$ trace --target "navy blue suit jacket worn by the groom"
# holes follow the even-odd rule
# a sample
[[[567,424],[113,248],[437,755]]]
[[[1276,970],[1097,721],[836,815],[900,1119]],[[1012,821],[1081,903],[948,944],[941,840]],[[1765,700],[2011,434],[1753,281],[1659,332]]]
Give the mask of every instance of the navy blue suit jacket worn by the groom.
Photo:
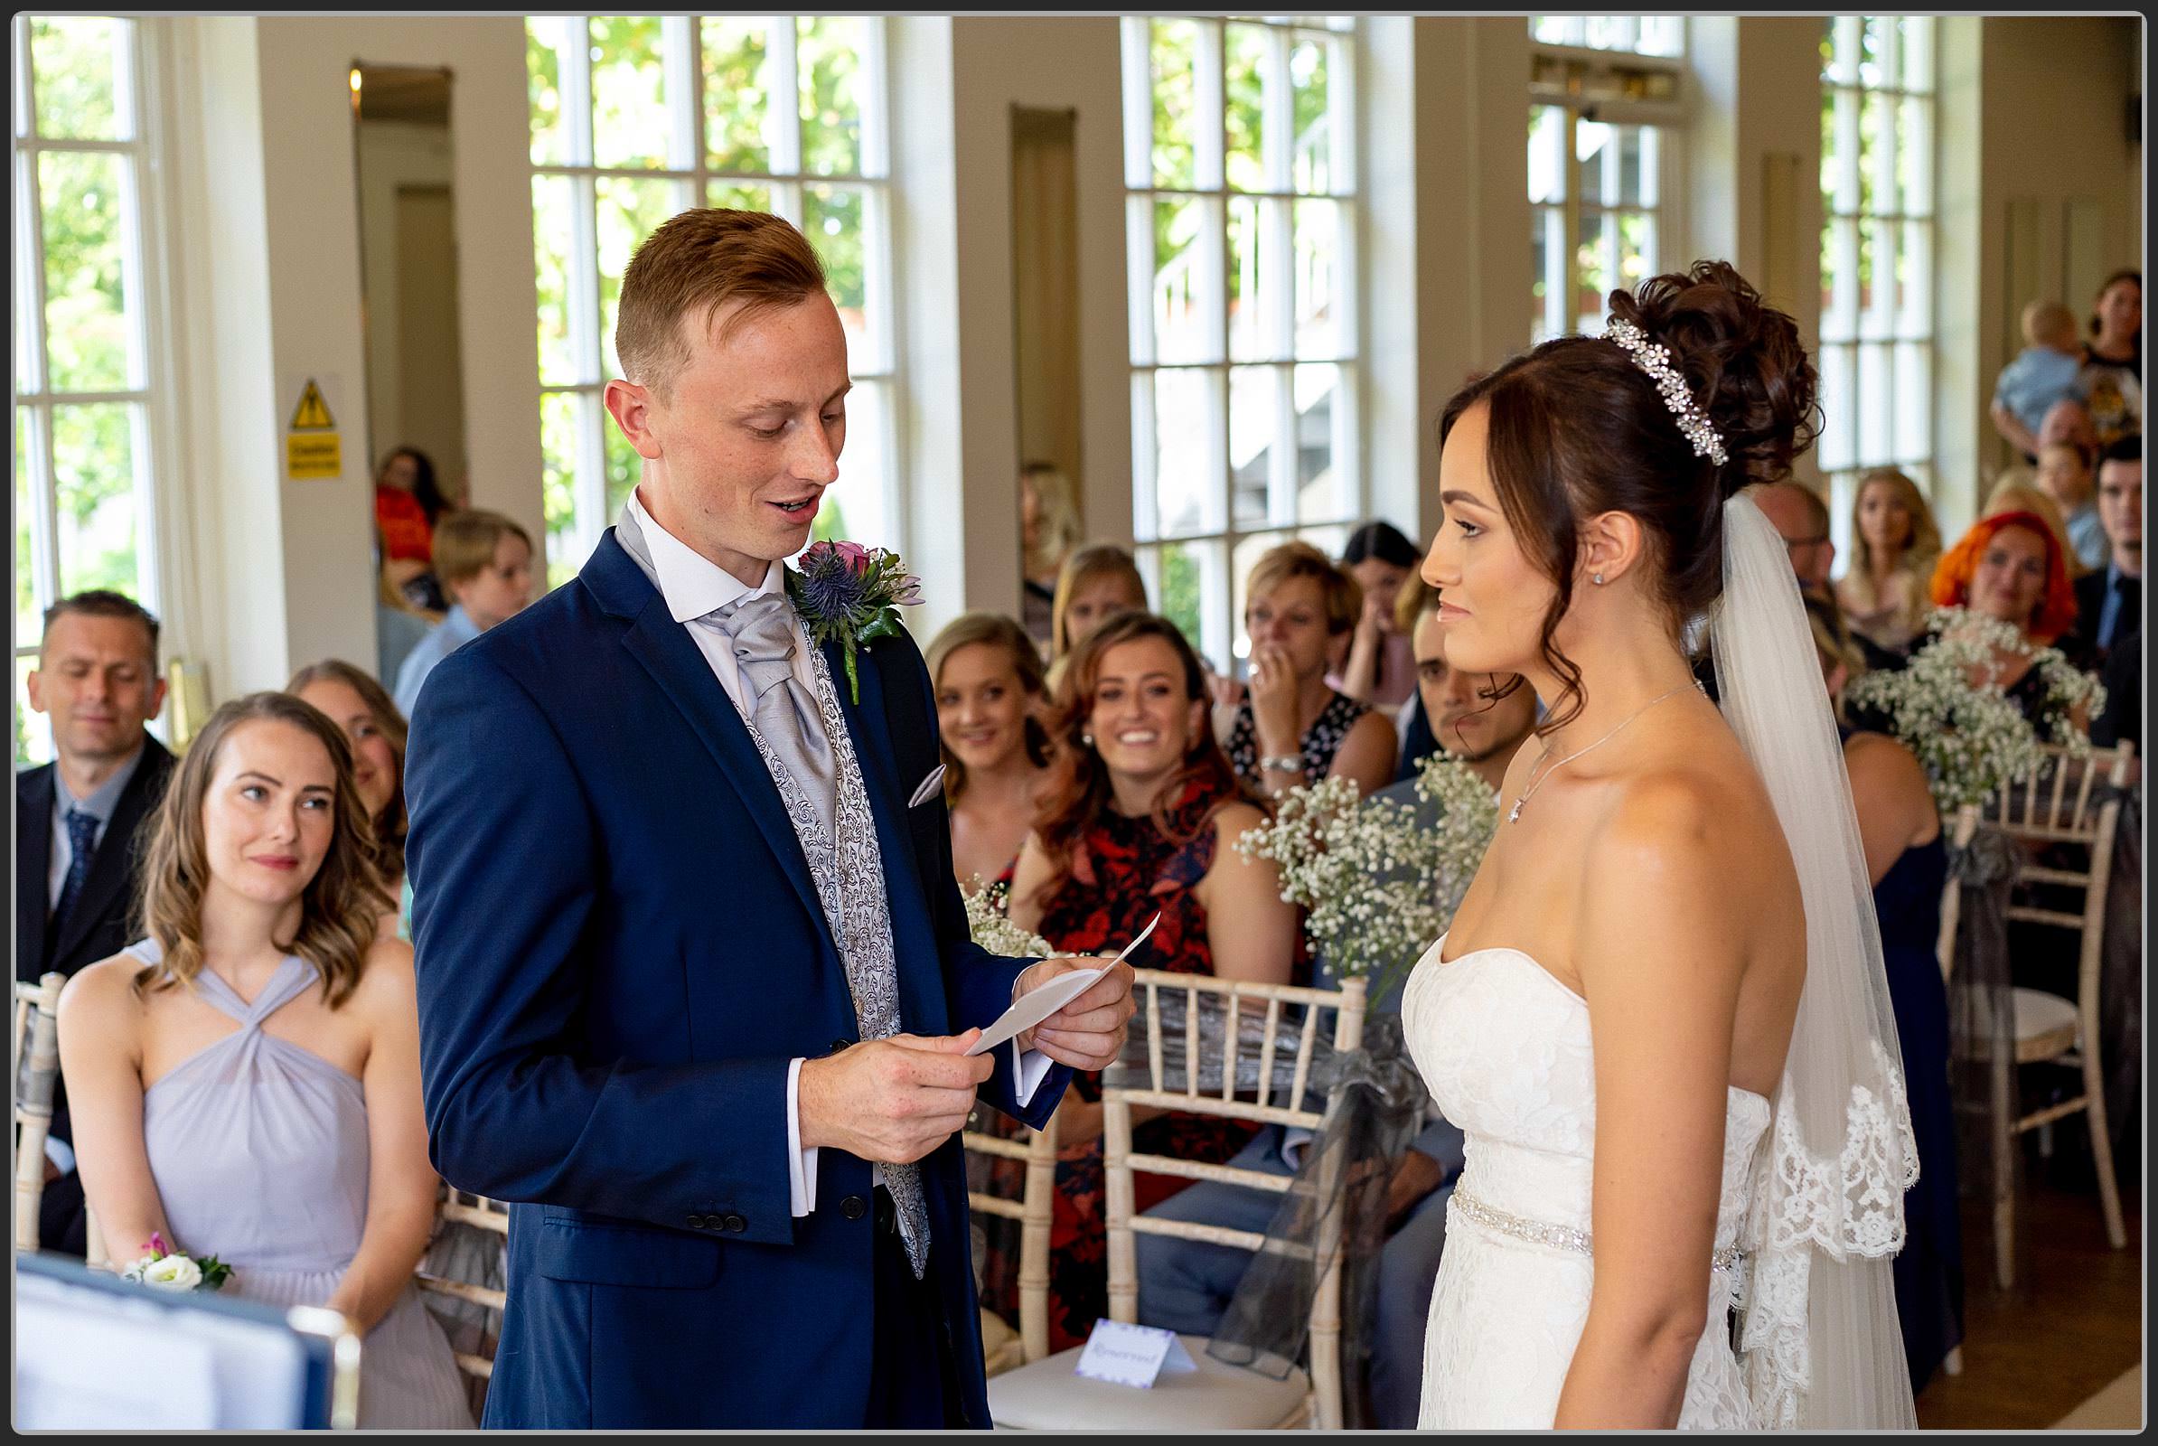
[[[913,1034],[988,1025],[1025,960],[967,935],[913,639],[827,652],[876,814]],[[445,658],[406,760],[427,1140],[509,1206],[488,1427],[861,1427],[870,1165],[788,1196],[788,1060],[852,1040],[846,971],[749,729],[609,531],[583,574]],[[986,1105],[1040,1127],[1010,1047]],[[930,1155],[945,1349],[988,1424],[967,1185]]]

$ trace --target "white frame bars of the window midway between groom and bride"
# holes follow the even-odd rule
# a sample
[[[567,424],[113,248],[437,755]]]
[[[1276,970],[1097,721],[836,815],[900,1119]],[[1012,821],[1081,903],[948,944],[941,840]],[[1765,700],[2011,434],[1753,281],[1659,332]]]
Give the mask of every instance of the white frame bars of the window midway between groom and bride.
[[[1174,19],[1198,26],[1198,50],[1193,56],[1193,186],[1189,190],[1167,190],[1155,186],[1152,142],[1155,142],[1155,91],[1152,91],[1152,22]],[[1226,173],[1228,134],[1226,121],[1204,123],[1204,117],[1224,117],[1226,104],[1226,47],[1228,24],[1224,15],[1124,15],[1124,220],[1126,220],[1126,265],[1129,265],[1129,317],[1131,317],[1131,509],[1133,537],[1137,542],[1137,563],[1146,578],[1148,596],[1157,609],[1163,606],[1163,555],[1170,548],[1187,548],[1187,557],[1198,565],[1200,581],[1200,637],[1191,643],[1213,667],[1234,671],[1234,660],[1249,654],[1249,637],[1243,628],[1243,572],[1239,568],[1239,544],[1254,540],[1301,537],[1323,546],[1329,555],[1340,550],[1347,535],[1357,527],[1370,507],[1370,483],[1364,475],[1364,423],[1362,423],[1362,326],[1360,291],[1362,276],[1357,233],[1362,224],[1362,166],[1355,147],[1355,114],[1362,104],[1357,84],[1360,22],[1347,15],[1329,17],[1286,17],[1286,15],[1239,15],[1239,26],[1267,35],[1267,88],[1262,166],[1267,186],[1262,190],[1230,188]],[[1303,24],[1299,24],[1303,22]],[[1299,41],[1327,43],[1327,97],[1329,127],[1325,134],[1329,188],[1295,188],[1295,142],[1293,95],[1288,88],[1288,58]],[[1336,99],[1338,97],[1338,99]],[[1347,119],[1334,125],[1334,119]],[[1278,140],[1286,138],[1286,140]],[[1159,360],[1155,347],[1157,276],[1155,276],[1155,205],[1157,201],[1191,201],[1202,209],[1200,235],[1189,248],[1191,289],[1198,300],[1204,326],[1213,332],[1200,358]],[[1293,248],[1293,207],[1297,201],[1334,203],[1340,227],[1336,231],[1338,253],[1334,257],[1334,313],[1338,345],[1327,356],[1299,356],[1295,347],[1295,298],[1297,298],[1297,253]],[[1230,337],[1228,315],[1228,229],[1230,205],[1254,203],[1265,233],[1265,257],[1278,257],[1286,274],[1278,274],[1265,291],[1273,306],[1260,317],[1273,343],[1265,358],[1237,358]],[[1256,278],[1256,270],[1254,270]],[[1249,296],[1249,291],[1247,291]],[[1297,406],[1295,373],[1301,365],[1336,367],[1338,386],[1329,410],[1331,466],[1338,473],[1340,511],[1323,518],[1299,518],[1297,499]],[[1275,378],[1278,419],[1267,440],[1267,516],[1258,522],[1237,520],[1234,460],[1230,455],[1230,412],[1234,406],[1230,378],[1234,373],[1271,371]],[[1155,386],[1161,373],[1196,373],[1206,382],[1208,412],[1198,419],[1208,429],[1206,455],[1213,460],[1213,490],[1202,499],[1198,527],[1163,529],[1157,492],[1157,410]],[[1249,563],[1249,559],[1243,559]]]

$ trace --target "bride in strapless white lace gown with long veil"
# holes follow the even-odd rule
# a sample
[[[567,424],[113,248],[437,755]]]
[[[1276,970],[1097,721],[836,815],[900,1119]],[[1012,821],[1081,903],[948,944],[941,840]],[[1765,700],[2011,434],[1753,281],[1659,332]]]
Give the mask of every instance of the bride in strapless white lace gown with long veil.
[[[1403,1001],[1467,1131],[1420,1424],[1912,1427],[1880,935],[1798,583],[1742,496],[1813,442],[1813,365],[1720,261],[1610,306],[1442,421],[1448,660],[1547,714]]]

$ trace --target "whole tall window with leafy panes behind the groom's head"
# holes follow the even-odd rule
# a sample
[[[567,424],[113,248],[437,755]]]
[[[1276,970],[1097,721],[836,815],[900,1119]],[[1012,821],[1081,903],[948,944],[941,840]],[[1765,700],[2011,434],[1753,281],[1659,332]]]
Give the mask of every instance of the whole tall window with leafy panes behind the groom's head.
[[[775,212],[824,261],[855,391],[818,535],[900,546],[885,22],[876,15],[527,19],[548,583],[591,555],[639,458],[600,395],[622,376],[622,270],[695,205]]]

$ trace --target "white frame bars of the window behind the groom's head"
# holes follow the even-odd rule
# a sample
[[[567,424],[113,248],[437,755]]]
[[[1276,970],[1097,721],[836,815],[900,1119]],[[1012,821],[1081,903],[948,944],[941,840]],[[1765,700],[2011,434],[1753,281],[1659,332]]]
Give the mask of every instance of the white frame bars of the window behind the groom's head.
[[[529,26],[559,24],[583,37],[583,43],[557,43],[555,54],[561,65],[561,125],[568,158],[561,164],[533,164],[533,177],[568,177],[572,192],[572,227],[568,242],[568,306],[570,306],[570,352],[576,367],[574,382],[550,382],[540,378],[540,406],[555,395],[576,397],[576,492],[574,520],[561,533],[563,555],[552,555],[555,533],[546,537],[550,555],[548,572],[574,576],[576,570],[600,546],[600,535],[613,524],[606,514],[606,427],[613,425],[602,395],[613,378],[609,367],[609,339],[602,335],[600,306],[600,244],[598,244],[598,183],[602,177],[624,177],[634,181],[671,181],[675,212],[710,205],[712,186],[762,186],[770,192],[773,212],[801,227],[805,186],[846,186],[868,192],[861,222],[868,335],[874,350],[848,345],[848,376],[857,384],[872,384],[883,395],[883,406],[874,412],[874,436],[865,436],[870,421],[848,412],[848,451],[857,458],[865,442],[883,460],[874,479],[878,509],[885,518],[883,537],[861,537],[868,544],[906,548],[906,507],[900,483],[900,339],[898,306],[893,304],[893,194],[891,194],[891,117],[887,108],[889,63],[887,63],[887,19],[883,15],[835,13],[842,19],[859,19],[863,26],[863,52],[859,69],[861,101],[861,170],[852,175],[822,175],[801,168],[801,104],[770,104],[770,97],[798,97],[801,78],[796,71],[796,19],[798,15],[768,17],[764,95],[766,142],[770,149],[770,170],[714,170],[708,164],[704,114],[704,15],[663,15],[663,65],[667,67],[665,93],[669,112],[667,166],[598,166],[591,149],[591,15],[527,15]],[[781,82],[783,78],[783,82]],[[537,257],[535,257],[537,261]],[[535,363],[537,365],[537,363]],[[842,488],[831,496],[846,503],[859,496],[870,479],[850,477],[842,455]],[[857,533],[859,535],[859,533]]]

